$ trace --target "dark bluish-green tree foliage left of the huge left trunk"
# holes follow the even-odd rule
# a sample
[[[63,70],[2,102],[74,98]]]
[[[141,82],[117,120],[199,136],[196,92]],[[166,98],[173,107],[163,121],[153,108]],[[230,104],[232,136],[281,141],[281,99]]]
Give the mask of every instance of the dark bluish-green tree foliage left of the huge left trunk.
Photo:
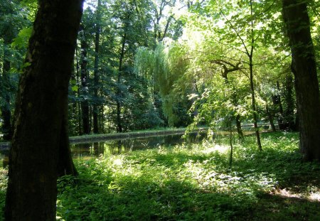
[[[18,31],[26,26],[26,16],[24,11],[21,10],[21,5],[18,1],[1,1],[0,2],[0,41],[3,41],[1,45],[0,60],[2,68],[0,72],[0,110],[3,123],[1,125],[1,132],[4,134],[4,140],[10,140],[12,136],[11,130],[11,104],[14,100],[16,92],[17,78],[11,68],[17,68],[19,63],[20,52],[19,50],[11,47],[11,43],[14,42],[14,38],[17,37]],[[3,49],[2,49],[3,48]],[[16,65],[15,65],[16,63]]]

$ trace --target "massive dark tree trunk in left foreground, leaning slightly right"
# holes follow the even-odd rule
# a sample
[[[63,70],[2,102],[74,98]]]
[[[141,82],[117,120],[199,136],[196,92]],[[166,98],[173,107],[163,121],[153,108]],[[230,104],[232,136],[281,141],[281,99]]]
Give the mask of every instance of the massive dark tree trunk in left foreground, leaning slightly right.
[[[68,170],[62,154],[82,1],[38,5],[16,99],[6,220],[55,220],[58,168]]]

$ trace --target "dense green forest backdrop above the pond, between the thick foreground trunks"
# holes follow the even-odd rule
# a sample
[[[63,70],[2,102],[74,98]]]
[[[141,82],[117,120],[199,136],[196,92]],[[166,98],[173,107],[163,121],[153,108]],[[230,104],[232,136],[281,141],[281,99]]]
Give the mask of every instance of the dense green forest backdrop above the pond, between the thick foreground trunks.
[[[0,4],[0,124],[8,140],[37,4]],[[70,135],[203,125],[238,129],[241,137],[244,122],[297,130],[281,7],[279,1],[86,1],[69,88]],[[318,11],[312,1],[317,61]]]

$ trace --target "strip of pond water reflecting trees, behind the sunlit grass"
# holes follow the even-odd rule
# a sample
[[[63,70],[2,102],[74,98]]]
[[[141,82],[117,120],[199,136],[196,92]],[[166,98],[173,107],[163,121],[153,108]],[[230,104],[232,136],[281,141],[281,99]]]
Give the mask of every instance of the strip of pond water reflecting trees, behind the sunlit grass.
[[[128,151],[136,151],[142,149],[152,149],[159,146],[174,146],[182,143],[198,143],[204,138],[203,135],[191,134],[186,139],[181,137],[181,134],[166,135],[166,136],[151,136],[139,139],[118,139],[100,141],[91,144],[73,144],[71,152],[73,158],[87,158],[107,156],[112,154],[125,153]]]

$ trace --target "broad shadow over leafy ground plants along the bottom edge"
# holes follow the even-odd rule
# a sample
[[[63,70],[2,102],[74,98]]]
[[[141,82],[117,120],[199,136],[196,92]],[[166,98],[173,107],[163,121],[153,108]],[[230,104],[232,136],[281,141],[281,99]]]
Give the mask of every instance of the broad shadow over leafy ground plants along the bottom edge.
[[[60,195],[64,220],[319,220],[320,203],[258,193],[234,198],[206,192],[191,183],[154,183],[123,177],[107,186],[77,185]],[[94,181],[92,181],[94,183]]]

